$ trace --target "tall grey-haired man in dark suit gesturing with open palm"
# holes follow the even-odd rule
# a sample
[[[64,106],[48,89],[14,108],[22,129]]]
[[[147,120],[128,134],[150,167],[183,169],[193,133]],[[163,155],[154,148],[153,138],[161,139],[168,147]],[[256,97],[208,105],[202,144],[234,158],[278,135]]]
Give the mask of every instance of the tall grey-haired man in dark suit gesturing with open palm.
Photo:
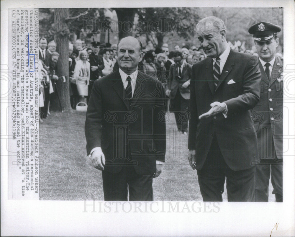
[[[254,201],[256,131],[251,111],[259,101],[258,58],[230,49],[217,17],[197,24],[208,58],[192,67],[189,164],[197,170],[204,201]]]

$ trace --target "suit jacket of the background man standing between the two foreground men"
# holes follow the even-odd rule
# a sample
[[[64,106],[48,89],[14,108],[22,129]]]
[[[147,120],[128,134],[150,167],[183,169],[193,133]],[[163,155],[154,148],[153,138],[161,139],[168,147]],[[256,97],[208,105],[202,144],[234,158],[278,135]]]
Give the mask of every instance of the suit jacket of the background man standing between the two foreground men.
[[[167,83],[166,89],[170,89],[170,95],[171,99],[174,99],[176,96],[177,89],[179,88],[179,92],[181,96],[184,99],[190,98],[190,86],[183,88],[181,85],[191,79],[191,67],[187,63],[183,66],[182,72],[181,72],[181,79],[178,79],[179,73],[178,73],[178,66],[176,64],[173,64],[170,66],[169,71],[169,83]]]

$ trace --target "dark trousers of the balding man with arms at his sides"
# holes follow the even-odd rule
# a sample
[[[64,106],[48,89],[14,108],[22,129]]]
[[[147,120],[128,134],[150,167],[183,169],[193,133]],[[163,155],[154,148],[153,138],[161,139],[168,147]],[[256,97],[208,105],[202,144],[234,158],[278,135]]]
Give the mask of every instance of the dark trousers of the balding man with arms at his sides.
[[[119,173],[102,171],[105,201],[153,201],[153,174],[137,174],[125,161]]]

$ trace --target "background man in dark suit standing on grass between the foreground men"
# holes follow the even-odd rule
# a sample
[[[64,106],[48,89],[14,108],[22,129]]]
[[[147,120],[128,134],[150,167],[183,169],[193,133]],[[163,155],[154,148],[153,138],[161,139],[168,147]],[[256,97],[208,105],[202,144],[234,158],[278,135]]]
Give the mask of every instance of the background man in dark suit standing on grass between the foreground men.
[[[171,108],[179,130],[185,135],[188,132],[189,120],[189,85],[191,67],[183,59],[181,52],[174,54],[175,64],[170,66],[169,81],[166,84],[166,95],[171,98]]]

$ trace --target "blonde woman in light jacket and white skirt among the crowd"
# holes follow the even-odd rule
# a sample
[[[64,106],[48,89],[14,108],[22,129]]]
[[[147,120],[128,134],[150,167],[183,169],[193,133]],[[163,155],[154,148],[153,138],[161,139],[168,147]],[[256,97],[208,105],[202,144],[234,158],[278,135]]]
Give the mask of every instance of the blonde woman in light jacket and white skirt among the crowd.
[[[86,96],[88,96],[88,85],[90,79],[90,63],[87,61],[87,51],[80,53],[80,59],[76,62],[75,72],[73,78],[76,81],[79,102],[83,101],[86,103]]]

